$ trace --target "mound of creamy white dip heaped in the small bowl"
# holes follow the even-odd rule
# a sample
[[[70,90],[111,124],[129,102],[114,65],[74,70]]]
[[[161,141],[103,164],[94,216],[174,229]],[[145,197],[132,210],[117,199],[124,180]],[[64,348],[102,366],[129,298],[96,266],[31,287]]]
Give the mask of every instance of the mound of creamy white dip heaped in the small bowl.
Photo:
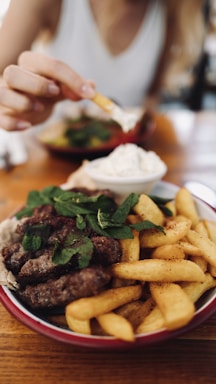
[[[164,170],[165,164],[153,151],[136,144],[122,144],[99,162],[97,171],[116,177],[139,177]]]

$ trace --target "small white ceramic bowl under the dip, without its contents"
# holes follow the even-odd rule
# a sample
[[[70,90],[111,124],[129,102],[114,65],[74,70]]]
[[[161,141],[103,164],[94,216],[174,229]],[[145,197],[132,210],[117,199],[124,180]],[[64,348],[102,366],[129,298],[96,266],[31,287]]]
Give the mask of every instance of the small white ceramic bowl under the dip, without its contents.
[[[160,167],[151,173],[143,172],[143,175],[139,176],[133,174],[121,177],[111,176],[102,172],[103,160],[104,158],[99,158],[90,161],[85,167],[85,172],[97,188],[109,189],[119,199],[124,199],[131,192],[150,193],[167,172],[166,164],[161,162]]]

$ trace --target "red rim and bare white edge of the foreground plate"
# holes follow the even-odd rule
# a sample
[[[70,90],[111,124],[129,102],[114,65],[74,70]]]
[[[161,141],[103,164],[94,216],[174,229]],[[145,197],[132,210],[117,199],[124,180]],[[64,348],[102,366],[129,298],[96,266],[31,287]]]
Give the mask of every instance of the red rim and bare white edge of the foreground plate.
[[[161,197],[173,197],[177,190],[178,187],[173,184],[160,182],[155,187],[153,193]],[[211,207],[199,199],[196,199],[196,204],[201,217],[216,221],[216,213]],[[0,287],[0,301],[21,323],[51,339],[80,347],[124,350],[175,338],[204,322],[216,311],[216,288],[211,289],[199,300],[195,316],[187,326],[176,331],[161,329],[159,331],[141,334],[136,337],[134,343],[127,343],[109,336],[81,335],[52,324],[45,316],[42,317],[30,312],[17,300],[15,294],[6,287]]]

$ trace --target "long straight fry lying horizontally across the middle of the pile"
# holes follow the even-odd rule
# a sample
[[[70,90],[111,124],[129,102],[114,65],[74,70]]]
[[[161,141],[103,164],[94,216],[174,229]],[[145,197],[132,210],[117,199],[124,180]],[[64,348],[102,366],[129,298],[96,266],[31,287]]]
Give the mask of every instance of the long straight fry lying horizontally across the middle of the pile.
[[[204,281],[201,268],[190,260],[145,259],[111,266],[111,274],[140,281]]]

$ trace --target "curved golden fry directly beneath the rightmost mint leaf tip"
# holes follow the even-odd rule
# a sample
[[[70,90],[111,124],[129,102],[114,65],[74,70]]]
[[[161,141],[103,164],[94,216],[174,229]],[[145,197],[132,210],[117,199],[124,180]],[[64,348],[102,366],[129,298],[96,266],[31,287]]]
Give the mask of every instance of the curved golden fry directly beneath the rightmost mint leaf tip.
[[[183,239],[190,229],[190,221],[172,221],[165,228],[165,234],[155,229],[142,231],[140,234],[141,248],[156,248],[161,245],[175,244]]]

